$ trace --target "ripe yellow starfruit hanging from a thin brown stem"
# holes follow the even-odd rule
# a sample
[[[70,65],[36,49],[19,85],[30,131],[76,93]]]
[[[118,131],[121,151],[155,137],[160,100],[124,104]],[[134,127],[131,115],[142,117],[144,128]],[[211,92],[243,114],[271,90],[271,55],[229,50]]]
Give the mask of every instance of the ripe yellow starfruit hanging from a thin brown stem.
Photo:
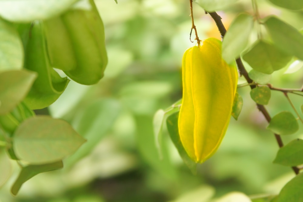
[[[206,39],[185,51],[178,129],[185,151],[197,163],[211,157],[225,135],[237,80],[236,67],[222,59],[218,39]]]

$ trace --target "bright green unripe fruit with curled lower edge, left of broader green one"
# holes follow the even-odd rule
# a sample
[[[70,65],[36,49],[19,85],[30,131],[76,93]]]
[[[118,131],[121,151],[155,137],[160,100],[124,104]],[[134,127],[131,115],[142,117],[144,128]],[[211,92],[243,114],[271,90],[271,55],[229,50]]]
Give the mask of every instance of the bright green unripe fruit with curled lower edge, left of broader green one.
[[[23,32],[21,31],[21,34],[31,36],[27,42],[24,41],[24,67],[37,72],[38,77],[24,102],[31,109],[42,109],[58,99],[68,85],[69,79],[62,78],[49,64],[42,22],[34,21],[28,26],[31,26],[31,29],[25,27]]]

